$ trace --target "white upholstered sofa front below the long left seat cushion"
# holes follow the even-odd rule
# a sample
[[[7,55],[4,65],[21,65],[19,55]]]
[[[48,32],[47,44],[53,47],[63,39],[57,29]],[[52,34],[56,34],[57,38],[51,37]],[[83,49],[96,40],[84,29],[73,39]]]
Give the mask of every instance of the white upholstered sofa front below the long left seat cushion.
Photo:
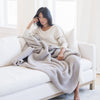
[[[0,100],[47,100],[43,98],[59,92],[60,91],[51,82],[48,82],[36,87],[25,89],[24,91],[0,97]]]

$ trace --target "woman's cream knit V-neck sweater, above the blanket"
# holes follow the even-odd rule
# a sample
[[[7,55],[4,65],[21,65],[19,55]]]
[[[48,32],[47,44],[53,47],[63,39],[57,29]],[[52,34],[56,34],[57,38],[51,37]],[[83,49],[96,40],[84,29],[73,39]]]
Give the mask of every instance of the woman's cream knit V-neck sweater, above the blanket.
[[[24,35],[34,35],[38,34],[41,39],[43,39],[48,45],[54,45],[59,47],[67,48],[67,41],[64,37],[64,34],[61,28],[57,25],[51,26],[47,31],[43,31],[41,27],[37,27],[32,32],[29,29],[26,29]]]

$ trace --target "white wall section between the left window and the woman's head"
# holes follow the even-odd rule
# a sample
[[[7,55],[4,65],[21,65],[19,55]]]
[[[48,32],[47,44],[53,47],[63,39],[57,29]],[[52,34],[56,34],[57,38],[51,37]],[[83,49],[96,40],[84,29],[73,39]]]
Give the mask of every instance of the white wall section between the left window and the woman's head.
[[[18,2],[18,33],[25,31],[35,14],[35,0],[17,0]]]

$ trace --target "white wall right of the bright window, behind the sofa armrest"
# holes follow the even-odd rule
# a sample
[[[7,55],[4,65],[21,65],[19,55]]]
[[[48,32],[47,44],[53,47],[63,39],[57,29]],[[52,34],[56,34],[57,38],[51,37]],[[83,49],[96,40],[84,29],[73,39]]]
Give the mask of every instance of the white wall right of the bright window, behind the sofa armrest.
[[[77,38],[96,45],[97,71],[100,72],[100,0],[77,2]]]

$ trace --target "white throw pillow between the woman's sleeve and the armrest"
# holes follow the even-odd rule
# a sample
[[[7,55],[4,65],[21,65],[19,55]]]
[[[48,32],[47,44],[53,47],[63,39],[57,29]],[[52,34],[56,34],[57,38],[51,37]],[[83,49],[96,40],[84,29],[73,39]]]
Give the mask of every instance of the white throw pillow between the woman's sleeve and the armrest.
[[[66,40],[68,42],[68,48],[78,52],[79,51],[78,50],[78,42],[76,39],[76,33],[75,33],[74,29],[70,30],[69,32],[64,32],[64,33],[65,33]]]

